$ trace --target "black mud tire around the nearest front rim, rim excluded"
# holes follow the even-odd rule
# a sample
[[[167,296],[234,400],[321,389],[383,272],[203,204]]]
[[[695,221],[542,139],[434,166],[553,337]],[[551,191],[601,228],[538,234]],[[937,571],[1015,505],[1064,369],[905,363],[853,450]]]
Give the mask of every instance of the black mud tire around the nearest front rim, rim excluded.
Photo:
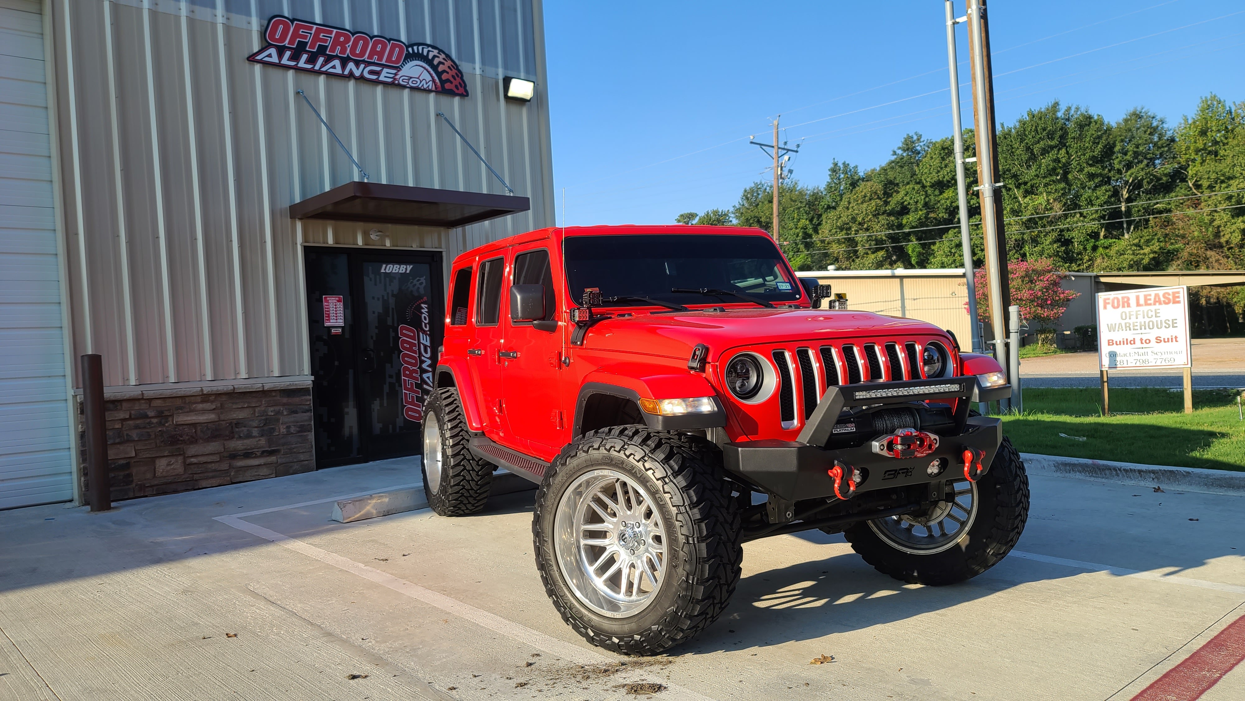
[[[726,610],[740,581],[740,510],[721,466],[702,438],[615,426],[566,446],[537,492],[532,537],[545,593],[575,633],[621,655],[656,655],[686,642]],[[554,517],[576,477],[609,467],[642,484],[667,527],[666,574],[655,601],[629,618],[585,606],[566,584],[554,550]]]

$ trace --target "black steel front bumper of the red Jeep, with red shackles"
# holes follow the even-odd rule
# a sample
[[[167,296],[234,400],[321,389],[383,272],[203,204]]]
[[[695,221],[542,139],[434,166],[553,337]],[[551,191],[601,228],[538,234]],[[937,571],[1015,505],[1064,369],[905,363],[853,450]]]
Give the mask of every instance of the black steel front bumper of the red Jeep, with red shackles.
[[[997,392],[1002,387],[994,390]],[[1007,387],[1010,392],[1010,387]],[[740,477],[759,491],[782,499],[796,502],[834,497],[834,478],[829,469],[834,461],[860,468],[864,479],[857,493],[926,484],[964,476],[964,451],[985,452],[981,467],[990,469],[995,453],[1002,443],[1002,421],[986,416],[969,416],[970,401],[985,392],[977,387],[976,377],[950,377],[945,380],[916,380],[910,382],[870,382],[848,387],[830,387],[822,397],[797,441],[740,441],[722,446],[727,472]],[[827,449],[830,432],[844,407],[899,406],[913,401],[957,398],[951,431],[935,432],[939,446],[930,454],[919,458],[891,458],[874,453],[867,441],[859,447]],[[944,469],[930,476],[928,468],[941,458]],[[974,464],[976,467],[976,464]],[[845,493],[847,486],[840,486]]]

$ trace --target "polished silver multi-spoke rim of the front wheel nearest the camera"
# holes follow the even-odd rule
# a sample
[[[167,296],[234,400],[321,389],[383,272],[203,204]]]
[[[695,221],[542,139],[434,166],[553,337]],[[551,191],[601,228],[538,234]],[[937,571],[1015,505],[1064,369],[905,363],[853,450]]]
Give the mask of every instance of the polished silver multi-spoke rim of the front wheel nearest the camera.
[[[563,492],[554,514],[558,564],[594,611],[625,618],[652,603],[666,570],[666,527],[652,497],[613,469],[593,469]]]

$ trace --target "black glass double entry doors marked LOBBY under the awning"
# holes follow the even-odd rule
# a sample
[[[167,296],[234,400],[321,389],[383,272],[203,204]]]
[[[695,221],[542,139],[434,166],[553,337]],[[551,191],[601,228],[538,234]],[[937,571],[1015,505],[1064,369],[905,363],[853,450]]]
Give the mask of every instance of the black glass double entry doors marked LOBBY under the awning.
[[[317,467],[418,454],[441,254],[309,247],[306,271]]]

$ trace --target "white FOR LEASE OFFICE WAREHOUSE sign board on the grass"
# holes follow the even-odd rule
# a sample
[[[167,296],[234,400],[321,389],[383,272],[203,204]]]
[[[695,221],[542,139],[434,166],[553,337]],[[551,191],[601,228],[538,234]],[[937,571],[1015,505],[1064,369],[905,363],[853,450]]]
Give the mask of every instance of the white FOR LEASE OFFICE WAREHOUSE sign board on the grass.
[[[1103,370],[1189,367],[1189,288],[1098,293]]]

